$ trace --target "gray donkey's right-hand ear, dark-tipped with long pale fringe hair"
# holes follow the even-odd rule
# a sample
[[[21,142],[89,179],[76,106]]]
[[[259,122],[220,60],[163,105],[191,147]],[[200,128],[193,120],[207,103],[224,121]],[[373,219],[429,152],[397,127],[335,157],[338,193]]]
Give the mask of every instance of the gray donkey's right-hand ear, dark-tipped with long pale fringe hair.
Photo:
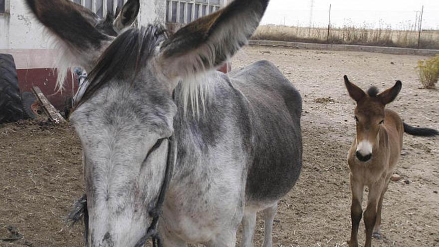
[[[247,42],[267,5],[268,0],[234,0],[181,28],[160,48],[161,69],[172,78],[220,66]]]

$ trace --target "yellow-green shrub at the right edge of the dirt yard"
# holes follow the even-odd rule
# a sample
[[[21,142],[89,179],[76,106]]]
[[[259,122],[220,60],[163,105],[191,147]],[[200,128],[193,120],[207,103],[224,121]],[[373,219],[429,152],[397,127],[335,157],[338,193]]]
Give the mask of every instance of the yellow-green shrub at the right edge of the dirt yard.
[[[416,72],[425,88],[434,88],[439,79],[439,54],[427,60],[419,60]]]

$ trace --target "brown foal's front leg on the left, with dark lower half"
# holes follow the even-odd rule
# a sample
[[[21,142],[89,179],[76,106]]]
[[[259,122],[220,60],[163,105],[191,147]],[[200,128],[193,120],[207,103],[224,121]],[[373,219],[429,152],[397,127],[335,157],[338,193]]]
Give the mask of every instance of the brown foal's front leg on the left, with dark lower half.
[[[360,226],[361,217],[363,215],[363,209],[361,208],[361,201],[363,201],[364,185],[355,181],[351,175],[351,192],[352,192],[352,204],[351,204],[351,240],[348,241],[349,247],[358,247],[358,227]]]

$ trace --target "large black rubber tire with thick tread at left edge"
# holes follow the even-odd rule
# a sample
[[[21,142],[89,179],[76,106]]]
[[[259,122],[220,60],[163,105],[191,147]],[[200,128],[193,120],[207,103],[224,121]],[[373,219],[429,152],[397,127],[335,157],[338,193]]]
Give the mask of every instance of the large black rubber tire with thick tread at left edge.
[[[17,71],[12,55],[0,54],[0,123],[23,119]]]

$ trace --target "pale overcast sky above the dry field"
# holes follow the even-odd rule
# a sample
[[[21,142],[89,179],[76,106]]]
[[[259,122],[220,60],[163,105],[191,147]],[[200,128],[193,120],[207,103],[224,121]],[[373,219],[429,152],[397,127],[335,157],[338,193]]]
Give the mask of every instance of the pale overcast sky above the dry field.
[[[311,1],[270,0],[262,24],[309,26]],[[377,28],[381,24],[410,29],[414,27],[416,11],[424,5],[423,29],[439,29],[439,0],[314,0],[313,26],[328,26],[330,4],[331,25],[335,27],[354,24]]]

